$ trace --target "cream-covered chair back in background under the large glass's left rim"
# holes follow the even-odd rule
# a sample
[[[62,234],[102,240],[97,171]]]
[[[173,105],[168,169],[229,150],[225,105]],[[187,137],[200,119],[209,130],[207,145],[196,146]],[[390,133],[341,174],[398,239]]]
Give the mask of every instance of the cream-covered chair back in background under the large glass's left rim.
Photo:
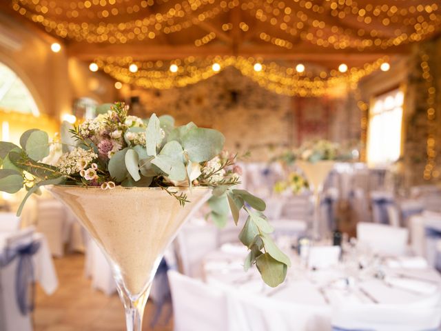
[[[55,257],[64,254],[65,208],[55,199],[41,199],[37,202],[37,231],[48,239],[50,252]]]

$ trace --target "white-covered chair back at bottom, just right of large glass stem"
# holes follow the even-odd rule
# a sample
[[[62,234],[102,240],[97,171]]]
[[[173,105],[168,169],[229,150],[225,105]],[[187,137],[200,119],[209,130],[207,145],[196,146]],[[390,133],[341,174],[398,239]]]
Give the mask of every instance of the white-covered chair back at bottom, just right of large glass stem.
[[[173,270],[167,274],[175,331],[229,331],[227,296],[223,290]]]

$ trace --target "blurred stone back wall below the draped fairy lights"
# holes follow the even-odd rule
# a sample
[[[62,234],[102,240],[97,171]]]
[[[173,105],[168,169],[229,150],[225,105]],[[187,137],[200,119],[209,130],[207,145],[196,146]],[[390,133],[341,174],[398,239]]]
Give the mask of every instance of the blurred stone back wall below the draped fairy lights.
[[[269,92],[226,68],[216,76],[185,88],[134,90],[134,111],[170,114],[178,125],[194,121],[225,134],[226,148],[252,152],[267,161],[287,147],[313,137],[346,141],[360,136],[360,117],[351,99],[291,98]]]

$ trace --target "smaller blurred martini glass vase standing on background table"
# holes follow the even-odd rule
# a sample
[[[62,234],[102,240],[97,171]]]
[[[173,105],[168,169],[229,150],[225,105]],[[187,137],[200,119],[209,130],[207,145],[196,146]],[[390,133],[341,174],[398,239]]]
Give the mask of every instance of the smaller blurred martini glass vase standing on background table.
[[[314,218],[312,223],[313,239],[320,239],[320,197],[323,192],[323,183],[329,172],[334,168],[334,161],[323,160],[317,162],[296,161],[296,165],[307,177],[309,186],[312,186],[314,197]]]

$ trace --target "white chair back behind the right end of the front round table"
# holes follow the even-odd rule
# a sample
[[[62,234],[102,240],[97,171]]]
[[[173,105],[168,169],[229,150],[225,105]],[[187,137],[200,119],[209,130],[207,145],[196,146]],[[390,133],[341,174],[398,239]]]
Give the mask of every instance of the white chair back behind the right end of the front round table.
[[[358,242],[374,253],[403,255],[407,252],[409,230],[376,223],[357,224]]]

